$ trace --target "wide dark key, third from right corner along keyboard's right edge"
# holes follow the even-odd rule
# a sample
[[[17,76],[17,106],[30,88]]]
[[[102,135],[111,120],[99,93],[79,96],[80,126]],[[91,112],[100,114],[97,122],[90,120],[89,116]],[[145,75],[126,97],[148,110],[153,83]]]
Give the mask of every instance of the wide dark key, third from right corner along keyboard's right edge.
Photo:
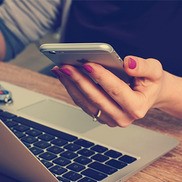
[[[104,165],[104,164],[101,164],[99,162],[93,162],[93,163],[89,164],[88,166],[95,170],[98,170],[102,173],[108,174],[108,175],[111,175],[117,171],[117,169]]]

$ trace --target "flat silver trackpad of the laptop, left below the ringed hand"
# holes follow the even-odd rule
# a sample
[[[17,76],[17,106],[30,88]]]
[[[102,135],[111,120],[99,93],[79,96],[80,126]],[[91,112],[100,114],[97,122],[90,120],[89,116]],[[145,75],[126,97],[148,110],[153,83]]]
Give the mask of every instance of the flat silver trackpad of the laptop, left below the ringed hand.
[[[38,119],[39,123],[76,133],[85,133],[99,126],[81,109],[49,99],[24,107],[19,112]]]

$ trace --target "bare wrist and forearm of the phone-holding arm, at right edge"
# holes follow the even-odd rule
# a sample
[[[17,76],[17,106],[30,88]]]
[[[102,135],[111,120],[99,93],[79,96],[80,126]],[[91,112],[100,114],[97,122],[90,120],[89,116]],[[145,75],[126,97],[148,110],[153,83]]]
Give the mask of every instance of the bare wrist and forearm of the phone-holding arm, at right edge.
[[[182,78],[164,72],[164,84],[157,108],[182,118]]]

